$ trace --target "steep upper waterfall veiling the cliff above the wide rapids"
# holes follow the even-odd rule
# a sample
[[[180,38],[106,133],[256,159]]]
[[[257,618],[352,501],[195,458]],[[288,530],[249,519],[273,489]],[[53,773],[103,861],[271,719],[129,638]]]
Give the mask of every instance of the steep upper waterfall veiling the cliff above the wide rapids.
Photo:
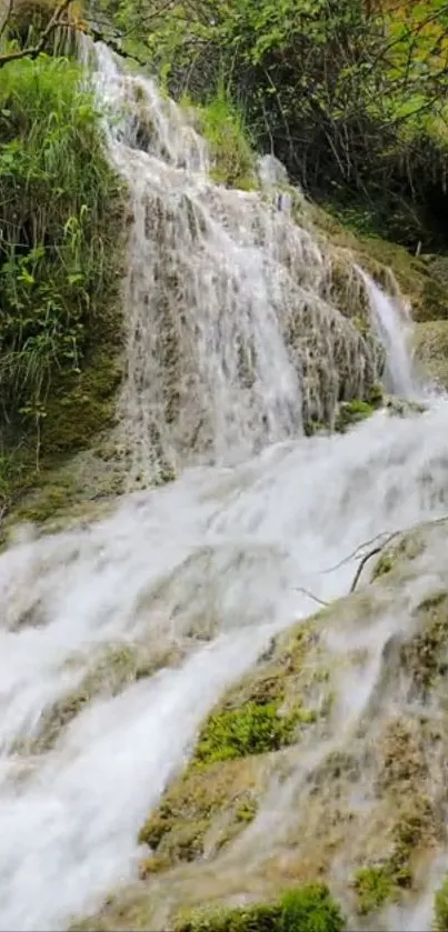
[[[331,423],[338,401],[379,381],[374,283],[366,338],[355,320],[365,273],[346,258],[352,294],[336,301],[331,255],[279,196],[276,160],[259,162],[261,191],[213,184],[191,114],[121,72],[101,44],[96,84],[131,200],[120,407],[129,488],[241,461],[310,418]]]

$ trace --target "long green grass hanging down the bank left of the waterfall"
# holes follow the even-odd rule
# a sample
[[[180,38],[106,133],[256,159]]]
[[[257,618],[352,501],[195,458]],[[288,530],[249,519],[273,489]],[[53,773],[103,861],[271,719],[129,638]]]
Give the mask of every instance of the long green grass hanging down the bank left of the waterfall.
[[[56,384],[81,377],[119,272],[121,191],[81,79],[40,56],[3,69],[0,89],[2,432],[31,423],[38,441]]]

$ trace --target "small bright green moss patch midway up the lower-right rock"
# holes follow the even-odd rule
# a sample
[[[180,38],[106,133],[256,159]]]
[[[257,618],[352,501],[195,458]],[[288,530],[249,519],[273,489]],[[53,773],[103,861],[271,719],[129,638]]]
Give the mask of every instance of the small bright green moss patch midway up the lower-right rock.
[[[198,763],[277,751],[291,743],[298,719],[307,713],[278,714],[278,704],[247,702],[241,709],[217,712],[200,732],[195,758]],[[310,713],[308,713],[310,714]]]

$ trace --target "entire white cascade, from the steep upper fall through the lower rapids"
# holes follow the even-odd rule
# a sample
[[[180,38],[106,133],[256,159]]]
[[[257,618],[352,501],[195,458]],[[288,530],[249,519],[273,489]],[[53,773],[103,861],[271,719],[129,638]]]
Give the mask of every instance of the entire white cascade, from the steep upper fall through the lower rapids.
[[[375,370],[322,297],[321,251],[287,212],[212,186],[175,104],[104,51],[99,61],[111,97],[131,106],[111,147],[133,212],[121,400],[132,480],[155,478],[160,460],[193,468],[102,523],[0,558],[4,930],[64,929],[132,878],[138,829],[226,685],[313,610],[307,591],[347,592],[354,564],[326,570],[379,532],[442,513],[448,498],[444,400],[411,420],[378,413],[347,435],[300,435],[322,372],[337,400],[337,353],[355,388]],[[135,148],[139,88],[148,151]],[[395,621],[381,624],[379,650]],[[362,637],[374,634],[360,620]],[[347,694],[347,722],[374,679],[359,703]]]

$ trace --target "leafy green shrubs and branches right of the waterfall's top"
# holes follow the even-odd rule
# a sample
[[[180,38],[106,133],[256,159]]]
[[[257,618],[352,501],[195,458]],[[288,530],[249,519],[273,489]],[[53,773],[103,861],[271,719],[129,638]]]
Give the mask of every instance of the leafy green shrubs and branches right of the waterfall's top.
[[[448,241],[446,0],[116,0],[113,20],[175,94],[223,80],[257,146],[365,231]]]

